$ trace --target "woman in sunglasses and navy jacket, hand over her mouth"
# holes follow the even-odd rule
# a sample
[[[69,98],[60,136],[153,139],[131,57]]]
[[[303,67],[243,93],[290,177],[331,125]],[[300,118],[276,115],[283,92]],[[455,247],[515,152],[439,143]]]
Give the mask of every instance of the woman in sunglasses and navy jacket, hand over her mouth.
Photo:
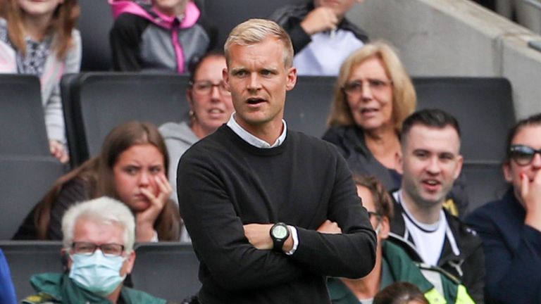
[[[507,137],[499,201],[466,222],[483,239],[489,303],[541,303],[541,114],[519,121]]]

